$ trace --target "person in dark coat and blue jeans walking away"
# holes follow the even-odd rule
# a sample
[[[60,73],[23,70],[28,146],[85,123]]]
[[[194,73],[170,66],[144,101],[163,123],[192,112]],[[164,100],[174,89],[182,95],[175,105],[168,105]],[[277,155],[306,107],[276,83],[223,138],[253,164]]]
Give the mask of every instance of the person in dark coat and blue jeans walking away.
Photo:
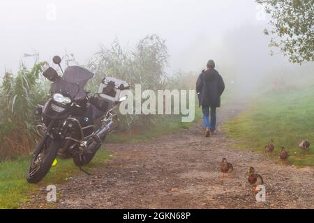
[[[207,70],[203,70],[196,82],[196,92],[200,107],[202,106],[205,137],[216,130],[216,109],[220,107],[220,96],[225,90],[225,83],[217,70],[215,62],[207,62]],[[209,118],[210,115],[210,118]]]

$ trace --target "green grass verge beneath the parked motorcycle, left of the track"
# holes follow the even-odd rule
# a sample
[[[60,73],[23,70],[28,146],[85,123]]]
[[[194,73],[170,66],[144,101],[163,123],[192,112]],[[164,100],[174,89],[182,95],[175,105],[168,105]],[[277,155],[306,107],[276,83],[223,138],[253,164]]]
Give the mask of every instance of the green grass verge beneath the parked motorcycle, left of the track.
[[[99,167],[107,162],[110,153],[98,151],[94,160],[84,169]],[[18,204],[29,199],[29,194],[38,192],[40,187],[51,184],[64,183],[68,178],[80,172],[72,160],[58,160],[58,164],[38,184],[33,185],[25,180],[25,173],[29,167],[29,157],[22,157],[13,162],[0,163],[0,209],[19,208]]]

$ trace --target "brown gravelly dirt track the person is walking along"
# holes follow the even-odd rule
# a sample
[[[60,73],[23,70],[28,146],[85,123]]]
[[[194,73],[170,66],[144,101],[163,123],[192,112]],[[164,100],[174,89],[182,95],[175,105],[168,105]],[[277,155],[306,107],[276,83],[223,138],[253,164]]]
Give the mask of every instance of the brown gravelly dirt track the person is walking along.
[[[218,125],[245,109],[238,98],[218,110]],[[56,208],[314,208],[313,169],[281,167],[268,157],[231,148],[218,133],[203,137],[202,123],[141,144],[108,144],[114,158],[94,176],[80,174],[57,185]],[[220,179],[223,157],[234,165]],[[249,167],[264,178],[267,201],[256,202],[247,182]],[[45,193],[24,203],[45,206]]]

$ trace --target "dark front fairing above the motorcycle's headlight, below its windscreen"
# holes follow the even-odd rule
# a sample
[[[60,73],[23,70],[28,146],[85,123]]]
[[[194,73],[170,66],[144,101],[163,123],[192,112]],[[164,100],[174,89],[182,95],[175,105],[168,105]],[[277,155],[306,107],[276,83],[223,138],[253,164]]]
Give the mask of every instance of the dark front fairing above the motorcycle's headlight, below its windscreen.
[[[57,79],[56,82],[51,84],[51,93],[61,93],[72,100],[80,92],[80,86],[78,84],[67,82],[63,78]]]

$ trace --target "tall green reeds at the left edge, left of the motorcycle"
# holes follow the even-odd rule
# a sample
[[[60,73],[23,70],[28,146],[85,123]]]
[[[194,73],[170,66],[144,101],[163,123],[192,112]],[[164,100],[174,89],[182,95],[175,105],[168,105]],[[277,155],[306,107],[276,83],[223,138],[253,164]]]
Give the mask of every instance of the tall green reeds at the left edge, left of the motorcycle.
[[[6,72],[0,88],[0,155],[27,154],[35,142],[33,109],[45,101],[47,85],[39,77],[43,63],[31,70],[22,64],[17,75]]]

